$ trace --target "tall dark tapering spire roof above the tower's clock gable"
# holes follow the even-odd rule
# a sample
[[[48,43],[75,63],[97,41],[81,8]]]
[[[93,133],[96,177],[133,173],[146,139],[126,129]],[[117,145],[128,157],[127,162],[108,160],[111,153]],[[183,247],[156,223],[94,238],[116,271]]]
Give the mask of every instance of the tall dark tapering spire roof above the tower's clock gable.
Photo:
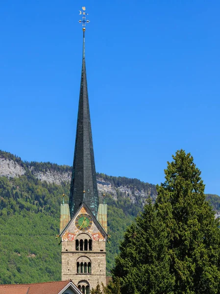
[[[99,201],[86,79],[85,27],[83,27],[82,72],[69,202],[71,218],[83,201],[97,217]]]

